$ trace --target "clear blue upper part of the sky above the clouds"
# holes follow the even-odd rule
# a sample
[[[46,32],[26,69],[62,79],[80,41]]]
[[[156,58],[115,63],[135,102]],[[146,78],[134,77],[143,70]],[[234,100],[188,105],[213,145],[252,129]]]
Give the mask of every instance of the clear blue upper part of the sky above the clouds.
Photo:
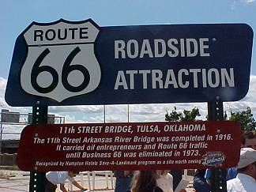
[[[15,40],[32,21],[92,18],[100,26],[247,23],[256,31],[254,0],[1,0],[0,10],[0,77],[4,78],[8,77]],[[255,54],[252,62],[254,57]],[[251,73],[256,74],[255,65],[252,65]]]

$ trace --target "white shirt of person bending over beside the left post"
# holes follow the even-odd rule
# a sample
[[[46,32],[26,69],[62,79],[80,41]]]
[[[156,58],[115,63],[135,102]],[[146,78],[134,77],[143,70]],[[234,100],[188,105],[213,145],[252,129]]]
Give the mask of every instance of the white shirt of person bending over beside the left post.
[[[69,179],[71,182],[74,180],[69,177],[68,171],[49,171],[46,174],[46,178],[54,185],[65,184],[66,179]]]

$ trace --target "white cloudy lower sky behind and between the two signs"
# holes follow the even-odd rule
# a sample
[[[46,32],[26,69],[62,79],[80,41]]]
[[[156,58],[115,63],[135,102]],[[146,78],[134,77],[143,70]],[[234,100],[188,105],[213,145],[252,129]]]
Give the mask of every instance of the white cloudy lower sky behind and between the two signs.
[[[256,118],[256,76],[250,76],[250,86],[247,96],[243,100],[236,102],[225,102],[224,111],[228,115],[230,109],[233,112],[246,110],[250,107]],[[4,94],[6,90],[6,79],[0,77],[0,108],[9,109],[9,111],[17,111],[28,114],[32,112],[32,107],[10,107],[6,104]],[[200,119],[205,119],[207,115],[206,103],[182,103],[182,104],[131,104],[129,106],[130,122],[153,122],[164,121],[166,112],[171,112],[177,107],[178,111],[191,110],[193,107],[200,109]],[[49,107],[49,113],[56,116],[64,116],[66,123],[85,123],[85,122],[104,122],[104,106],[88,105],[88,106],[66,106],[66,107]],[[106,106],[106,122],[127,122],[128,121],[127,105],[107,105]],[[19,132],[24,126],[5,126],[5,132]],[[18,135],[8,135],[9,138],[19,137]],[[3,138],[6,138],[3,137]]]

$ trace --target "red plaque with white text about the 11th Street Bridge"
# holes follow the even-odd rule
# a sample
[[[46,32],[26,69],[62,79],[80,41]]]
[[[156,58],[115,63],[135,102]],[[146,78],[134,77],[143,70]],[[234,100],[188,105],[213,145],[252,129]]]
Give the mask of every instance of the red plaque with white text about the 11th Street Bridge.
[[[235,167],[241,129],[232,121],[35,124],[21,134],[24,171]]]

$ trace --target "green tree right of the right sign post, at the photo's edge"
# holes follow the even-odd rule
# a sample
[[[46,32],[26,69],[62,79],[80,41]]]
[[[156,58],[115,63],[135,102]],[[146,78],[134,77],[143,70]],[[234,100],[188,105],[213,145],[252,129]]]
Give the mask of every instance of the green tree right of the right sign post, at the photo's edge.
[[[233,113],[232,110],[230,111],[230,118],[229,120],[239,122],[241,124],[241,128],[243,133],[247,133],[250,131],[255,131],[256,122],[254,119],[254,115],[251,112],[250,107],[247,107],[245,111],[238,111]]]

